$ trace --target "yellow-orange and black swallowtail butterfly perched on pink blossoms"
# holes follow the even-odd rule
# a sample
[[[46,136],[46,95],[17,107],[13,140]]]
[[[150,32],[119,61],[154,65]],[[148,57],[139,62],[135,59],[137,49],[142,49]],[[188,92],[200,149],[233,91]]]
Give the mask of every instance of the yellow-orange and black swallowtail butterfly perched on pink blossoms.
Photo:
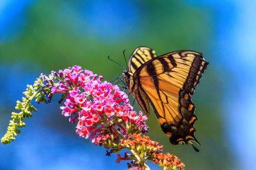
[[[157,56],[144,46],[136,48],[128,60],[123,72],[127,89],[147,116],[152,106],[173,145],[191,141],[200,145],[195,138],[197,118],[191,96],[208,64],[202,53],[180,50]]]

